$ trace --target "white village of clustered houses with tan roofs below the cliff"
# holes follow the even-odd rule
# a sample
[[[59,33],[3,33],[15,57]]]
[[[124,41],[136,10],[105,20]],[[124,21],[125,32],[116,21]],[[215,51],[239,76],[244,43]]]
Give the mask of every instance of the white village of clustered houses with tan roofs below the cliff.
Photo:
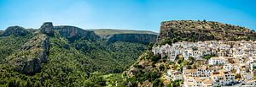
[[[165,77],[182,80],[184,87],[256,86],[256,41],[182,41],[152,52],[170,63],[183,60],[170,65]]]

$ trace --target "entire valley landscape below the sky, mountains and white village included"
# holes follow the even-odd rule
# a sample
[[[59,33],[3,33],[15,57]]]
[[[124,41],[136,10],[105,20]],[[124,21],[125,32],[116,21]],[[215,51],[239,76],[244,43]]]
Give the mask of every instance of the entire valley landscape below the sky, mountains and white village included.
[[[254,30],[205,20],[164,21],[160,34],[10,26],[0,37],[0,86],[250,85],[255,37]]]

